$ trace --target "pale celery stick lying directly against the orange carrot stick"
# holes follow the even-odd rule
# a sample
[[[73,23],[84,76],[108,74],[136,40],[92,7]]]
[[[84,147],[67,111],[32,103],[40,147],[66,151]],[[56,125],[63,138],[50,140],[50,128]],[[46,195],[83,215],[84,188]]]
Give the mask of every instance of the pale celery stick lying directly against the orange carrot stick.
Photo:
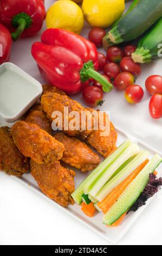
[[[113,191],[115,187],[117,187],[127,178],[127,176],[129,176],[137,167],[139,167],[142,162],[148,159],[148,156],[148,151],[141,151],[124,169],[121,170],[120,173],[114,176],[113,179],[111,179],[104,187],[102,187],[100,192],[96,195],[96,199],[101,202],[105,197],[108,196],[109,193]]]

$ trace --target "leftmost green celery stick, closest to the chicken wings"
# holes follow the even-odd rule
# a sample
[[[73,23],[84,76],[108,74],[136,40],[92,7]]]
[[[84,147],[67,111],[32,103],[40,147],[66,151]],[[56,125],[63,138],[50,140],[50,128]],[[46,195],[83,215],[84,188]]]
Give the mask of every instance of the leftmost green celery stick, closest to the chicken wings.
[[[125,141],[120,145],[118,149],[114,151],[113,154],[107,157],[105,161],[103,161],[98,167],[94,169],[92,173],[90,173],[85,180],[76,188],[76,190],[72,193],[72,197],[77,204],[81,204],[82,202],[82,194],[85,191],[85,194],[88,194],[91,186],[95,183],[95,181],[99,178],[99,176],[104,172],[104,170],[111,165],[116,158],[129,146],[131,145],[131,141]]]

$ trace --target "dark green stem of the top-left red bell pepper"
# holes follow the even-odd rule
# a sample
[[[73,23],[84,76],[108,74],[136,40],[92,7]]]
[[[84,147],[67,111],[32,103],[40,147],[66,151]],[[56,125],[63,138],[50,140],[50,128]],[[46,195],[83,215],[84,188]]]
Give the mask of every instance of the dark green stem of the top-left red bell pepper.
[[[18,38],[20,38],[24,30],[31,26],[31,23],[32,19],[28,14],[19,13],[15,15],[12,19],[12,26],[16,28],[16,31],[11,33],[12,39],[16,41]]]

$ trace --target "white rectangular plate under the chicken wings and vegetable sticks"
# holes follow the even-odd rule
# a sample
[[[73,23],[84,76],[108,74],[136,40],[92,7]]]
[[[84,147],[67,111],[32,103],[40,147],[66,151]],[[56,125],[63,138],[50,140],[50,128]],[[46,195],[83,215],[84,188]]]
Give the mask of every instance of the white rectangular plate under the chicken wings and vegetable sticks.
[[[137,143],[141,150],[148,150],[150,152],[150,158],[155,154],[159,153],[157,150],[152,149],[151,147],[148,147],[148,145],[140,142],[138,139],[132,137],[131,135],[128,135],[124,131],[120,129],[116,129],[118,131],[118,141],[117,145],[120,145],[122,142],[124,142],[126,139],[131,139],[133,142]],[[157,172],[159,175],[161,175],[161,168],[157,168]],[[83,179],[88,174],[83,174],[79,170],[76,171],[76,177],[75,177],[75,187],[77,187]],[[104,237],[107,241],[112,243],[119,242],[128,232],[128,230],[131,228],[133,223],[138,219],[139,215],[142,214],[142,212],[146,209],[147,205],[151,203],[151,200],[154,198],[150,198],[145,206],[142,206],[138,211],[129,213],[124,221],[122,221],[121,225],[117,228],[108,228],[105,225],[102,224],[102,214],[97,213],[93,218],[87,217],[80,209],[80,206],[77,204],[70,205],[67,208],[63,208],[59,204],[55,203],[53,200],[49,199],[47,196],[45,196],[40,188],[38,188],[37,183],[35,182],[34,178],[28,173],[24,174],[22,178],[16,178],[13,177],[19,182],[22,182],[25,186],[28,186],[31,190],[35,191],[36,193],[40,194],[42,198],[45,198],[55,206],[59,207],[61,210],[66,212],[67,214],[71,215],[72,217],[76,218],[80,222],[87,225],[87,227],[93,229],[96,233],[98,233],[100,236]]]

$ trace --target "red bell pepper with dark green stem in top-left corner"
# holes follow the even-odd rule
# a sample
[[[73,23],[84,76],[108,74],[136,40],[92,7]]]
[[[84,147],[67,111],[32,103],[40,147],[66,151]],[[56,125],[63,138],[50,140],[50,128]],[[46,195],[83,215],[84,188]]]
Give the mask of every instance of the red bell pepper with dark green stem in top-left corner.
[[[14,41],[39,32],[45,17],[43,0],[0,1],[0,22],[9,29]]]

